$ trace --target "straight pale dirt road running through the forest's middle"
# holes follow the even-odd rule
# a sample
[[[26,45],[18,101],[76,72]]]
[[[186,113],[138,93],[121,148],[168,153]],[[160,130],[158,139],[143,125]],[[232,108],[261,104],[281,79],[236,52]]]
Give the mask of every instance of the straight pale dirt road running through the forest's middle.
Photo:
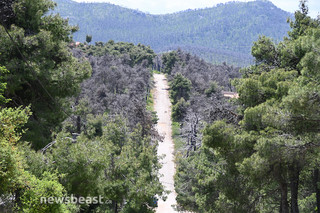
[[[157,130],[161,136],[164,136],[163,142],[159,143],[158,155],[165,155],[162,160],[162,168],[160,174],[161,183],[165,190],[170,190],[167,200],[159,200],[157,213],[176,212],[172,205],[176,205],[176,193],[174,191],[173,176],[175,173],[174,165],[174,143],[172,141],[171,133],[171,103],[169,99],[168,82],[163,74],[154,74],[155,91],[154,91],[154,110],[158,115]]]

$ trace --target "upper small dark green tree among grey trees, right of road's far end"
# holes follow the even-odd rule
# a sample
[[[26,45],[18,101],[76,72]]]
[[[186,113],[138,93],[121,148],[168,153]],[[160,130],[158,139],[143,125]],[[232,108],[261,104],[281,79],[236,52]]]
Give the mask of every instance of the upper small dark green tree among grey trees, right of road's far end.
[[[181,73],[176,74],[170,82],[170,98],[173,104],[176,104],[181,98],[188,100],[191,86],[189,79],[185,78]]]

